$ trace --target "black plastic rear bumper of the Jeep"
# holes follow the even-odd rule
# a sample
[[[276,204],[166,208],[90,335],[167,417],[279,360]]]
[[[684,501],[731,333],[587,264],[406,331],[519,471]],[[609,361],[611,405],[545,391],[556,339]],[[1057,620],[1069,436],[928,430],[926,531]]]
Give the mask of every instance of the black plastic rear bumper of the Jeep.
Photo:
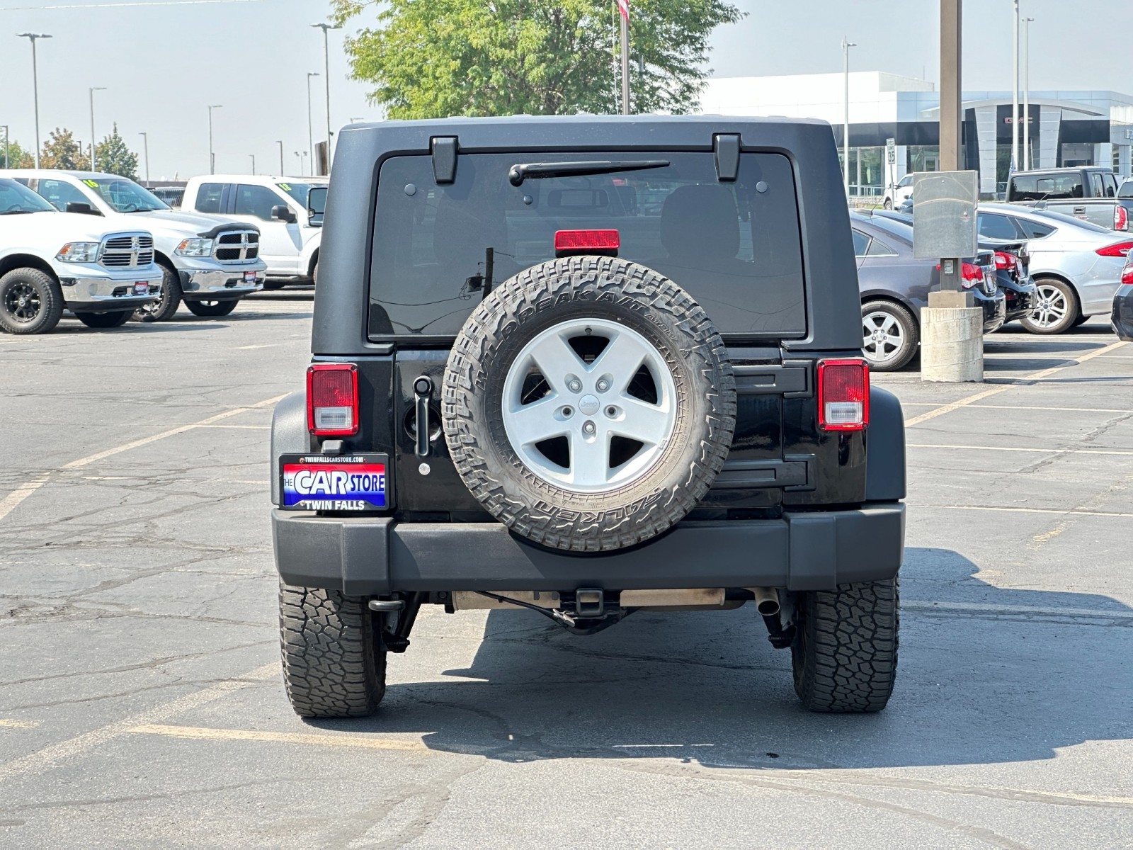
[[[684,521],[655,541],[597,555],[543,549],[496,522],[395,522],[272,511],[275,567],[290,585],[352,596],[408,590],[833,589],[892,578],[905,507]]]

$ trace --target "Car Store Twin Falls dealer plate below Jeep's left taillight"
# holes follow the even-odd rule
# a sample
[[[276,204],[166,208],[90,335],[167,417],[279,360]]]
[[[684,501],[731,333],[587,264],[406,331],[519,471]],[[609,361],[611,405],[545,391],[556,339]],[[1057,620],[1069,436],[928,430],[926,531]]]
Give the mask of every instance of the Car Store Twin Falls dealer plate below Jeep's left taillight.
[[[283,454],[281,508],[375,511],[389,508],[385,454]]]

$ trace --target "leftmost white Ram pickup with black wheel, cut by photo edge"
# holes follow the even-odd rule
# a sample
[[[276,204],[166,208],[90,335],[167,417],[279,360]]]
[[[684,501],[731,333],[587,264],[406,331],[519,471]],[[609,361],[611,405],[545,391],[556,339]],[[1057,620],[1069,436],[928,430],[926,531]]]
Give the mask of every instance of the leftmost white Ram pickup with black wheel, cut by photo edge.
[[[0,178],[0,330],[46,333],[66,307],[88,328],[119,328],[157,299],[153,237],[57,212]]]

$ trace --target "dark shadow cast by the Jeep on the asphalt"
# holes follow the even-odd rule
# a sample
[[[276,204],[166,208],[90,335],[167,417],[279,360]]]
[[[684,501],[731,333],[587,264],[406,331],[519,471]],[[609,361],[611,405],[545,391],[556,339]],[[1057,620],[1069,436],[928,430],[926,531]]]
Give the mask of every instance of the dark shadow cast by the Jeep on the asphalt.
[[[804,711],[790,654],[746,605],[639,612],[591,637],[493,611],[471,665],[443,672],[454,681],[392,685],[374,717],[315,725],[412,732],[434,750],[503,762],[778,770],[1023,762],[1133,738],[1133,609],[997,588],[977,572],[949,550],[906,550],[900,673],[879,714]]]

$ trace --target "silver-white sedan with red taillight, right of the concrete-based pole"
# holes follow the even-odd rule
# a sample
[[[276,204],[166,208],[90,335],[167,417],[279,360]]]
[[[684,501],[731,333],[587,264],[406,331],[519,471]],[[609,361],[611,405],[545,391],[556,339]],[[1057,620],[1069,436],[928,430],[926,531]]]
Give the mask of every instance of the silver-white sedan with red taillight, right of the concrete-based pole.
[[[1133,239],[1053,210],[981,204],[981,238],[1025,239],[1038,305],[1022,320],[1031,333],[1062,333],[1108,314]]]

